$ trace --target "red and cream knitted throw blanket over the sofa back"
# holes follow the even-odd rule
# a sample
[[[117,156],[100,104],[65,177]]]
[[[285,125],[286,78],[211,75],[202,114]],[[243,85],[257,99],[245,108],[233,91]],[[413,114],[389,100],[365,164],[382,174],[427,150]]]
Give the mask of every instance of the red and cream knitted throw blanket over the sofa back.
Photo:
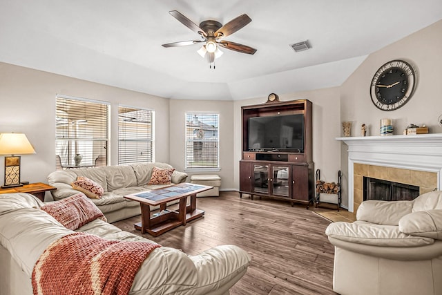
[[[69,234],[52,242],[35,264],[34,294],[128,294],[138,269],[157,247]]]

